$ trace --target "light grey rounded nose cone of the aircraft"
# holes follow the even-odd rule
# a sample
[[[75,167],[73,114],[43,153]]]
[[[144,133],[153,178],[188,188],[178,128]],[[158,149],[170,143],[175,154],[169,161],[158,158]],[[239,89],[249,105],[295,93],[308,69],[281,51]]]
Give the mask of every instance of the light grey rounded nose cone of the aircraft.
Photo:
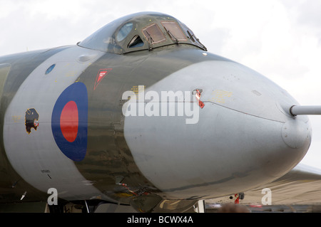
[[[204,107],[194,90],[201,91]],[[165,111],[164,91],[176,95],[165,100]],[[168,199],[212,198],[260,186],[290,171],[310,146],[307,118],[286,112],[297,102],[238,63],[190,65],[144,95],[145,114],[127,115],[124,134],[138,168]]]

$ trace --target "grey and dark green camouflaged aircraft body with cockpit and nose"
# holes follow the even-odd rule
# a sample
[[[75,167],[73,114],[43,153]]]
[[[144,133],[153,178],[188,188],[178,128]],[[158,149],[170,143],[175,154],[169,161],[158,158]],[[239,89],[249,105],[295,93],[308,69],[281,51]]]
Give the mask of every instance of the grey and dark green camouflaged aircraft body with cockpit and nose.
[[[156,25],[159,41],[148,33]],[[138,211],[165,200],[192,206],[285,175],[311,142],[309,119],[290,114],[298,103],[285,90],[208,53],[165,14],[123,17],[76,46],[0,57],[0,89],[2,204],[47,201],[54,188],[66,201]],[[126,115],[128,91],[154,100]],[[161,112],[163,91],[191,95]],[[195,115],[168,112],[187,104]]]

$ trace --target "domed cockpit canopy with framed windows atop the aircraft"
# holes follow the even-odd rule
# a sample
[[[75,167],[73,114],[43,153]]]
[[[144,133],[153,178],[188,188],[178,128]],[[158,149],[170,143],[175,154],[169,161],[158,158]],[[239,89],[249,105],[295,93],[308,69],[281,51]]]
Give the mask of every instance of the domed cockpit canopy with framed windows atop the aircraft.
[[[124,16],[108,23],[78,46],[108,53],[152,50],[173,44],[189,44],[207,51],[193,31],[172,16],[154,12]]]

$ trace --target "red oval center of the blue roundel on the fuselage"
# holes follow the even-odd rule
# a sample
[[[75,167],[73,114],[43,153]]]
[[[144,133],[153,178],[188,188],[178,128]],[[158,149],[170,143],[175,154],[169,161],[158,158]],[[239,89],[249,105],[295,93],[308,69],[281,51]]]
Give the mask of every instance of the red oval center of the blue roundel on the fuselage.
[[[75,141],[78,133],[78,107],[70,101],[63,107],[60,116],[60,127],[63,137],[68,142]]]

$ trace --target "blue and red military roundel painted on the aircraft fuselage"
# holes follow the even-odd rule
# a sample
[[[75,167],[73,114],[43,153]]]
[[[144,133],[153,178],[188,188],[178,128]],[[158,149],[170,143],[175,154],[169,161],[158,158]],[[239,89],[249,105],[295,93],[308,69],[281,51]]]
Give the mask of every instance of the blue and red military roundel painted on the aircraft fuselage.
[[[86,156],[88,93],[83,83],[73,83],[58,97],[51,117],[57,146],[69,159],[80,162]]]

